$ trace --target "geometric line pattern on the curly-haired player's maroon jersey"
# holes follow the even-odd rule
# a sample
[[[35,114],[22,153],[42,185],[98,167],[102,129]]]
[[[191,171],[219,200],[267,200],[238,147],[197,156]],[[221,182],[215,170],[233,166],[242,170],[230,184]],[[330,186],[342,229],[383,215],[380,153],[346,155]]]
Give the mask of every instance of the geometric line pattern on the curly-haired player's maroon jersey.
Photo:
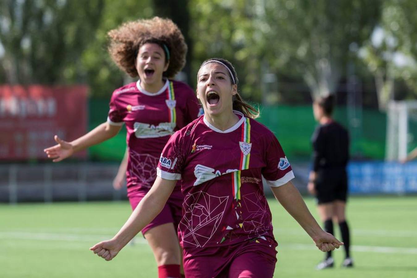
[[[156,166],[159,158],[149,154],[140,154],[129,148],[131,177],[137,178],[145,188],[151,188],[156,177]]]

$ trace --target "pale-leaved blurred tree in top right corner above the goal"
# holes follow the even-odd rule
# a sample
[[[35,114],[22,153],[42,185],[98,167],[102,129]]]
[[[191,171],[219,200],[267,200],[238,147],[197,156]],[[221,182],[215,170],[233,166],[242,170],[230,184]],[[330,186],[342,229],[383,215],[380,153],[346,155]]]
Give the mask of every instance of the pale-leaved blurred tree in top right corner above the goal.
[[[395,80],[417,95],[417,5],[414,0],[385,0],[379,25],[373,30],[359,56],[374,75],[378,106],[385,110],[394,99]]]

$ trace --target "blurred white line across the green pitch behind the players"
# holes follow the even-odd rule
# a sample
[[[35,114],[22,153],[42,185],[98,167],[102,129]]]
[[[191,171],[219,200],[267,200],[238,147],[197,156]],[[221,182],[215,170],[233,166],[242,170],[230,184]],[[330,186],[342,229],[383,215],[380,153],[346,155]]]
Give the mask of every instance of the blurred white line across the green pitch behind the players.
[[[30,232],[0,232],[0,239],[18,239],[18,240],[55,240],[55,241],[99,241],[111,238],[111,235],[77,235],[77,234],[61,234],[61,233],[30,233]],[[134,243],[147,244],[146,240],[141,236],[134,239]],[[315,250],[317,249],[311,244],[295,244],[280,243],[281,248],[291,248],[298,250]],[[353,245],[352,250],[355,252],[365,253],[399,253],[399,254],[417,254],[417,248],[406,247],[389,247],[389,246],[365,246]]]

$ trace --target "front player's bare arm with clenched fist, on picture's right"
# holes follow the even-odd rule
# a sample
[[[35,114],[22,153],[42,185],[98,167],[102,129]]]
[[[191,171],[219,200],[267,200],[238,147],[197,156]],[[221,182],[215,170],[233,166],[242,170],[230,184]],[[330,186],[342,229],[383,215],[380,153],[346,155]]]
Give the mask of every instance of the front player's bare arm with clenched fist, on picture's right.
[[[316,243],[317,248],[323,252],[334,250],[343,245],[332,234],[326,233],[320,228],[317,221],[311,215],[309,209],[304,203],[299,191],[295,186],[288,182],[279,187],[271,187],[275,198],[288,211],[289,214],[303,227]]]

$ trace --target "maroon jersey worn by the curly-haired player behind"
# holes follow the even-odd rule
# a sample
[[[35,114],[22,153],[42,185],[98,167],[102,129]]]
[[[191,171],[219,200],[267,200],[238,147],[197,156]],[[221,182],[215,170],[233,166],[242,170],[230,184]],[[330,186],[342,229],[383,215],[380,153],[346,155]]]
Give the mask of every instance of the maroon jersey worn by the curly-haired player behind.
[[[126,123],[128,195],[137,188],[152,186],[166,142],[176,130],[197,118],[198,110],[193,90],[178,81],[166,80],[157,93],[143,90],[139,81],[113,92],[107,121],[111,125]]]

